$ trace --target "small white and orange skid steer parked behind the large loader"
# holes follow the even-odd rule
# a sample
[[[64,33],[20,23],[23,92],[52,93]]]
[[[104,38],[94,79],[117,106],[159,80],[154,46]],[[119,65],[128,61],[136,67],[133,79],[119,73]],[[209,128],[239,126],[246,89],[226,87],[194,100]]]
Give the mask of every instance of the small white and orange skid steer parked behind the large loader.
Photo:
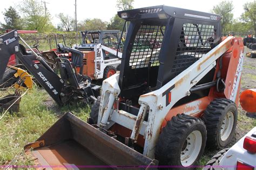
[[[104,80],[119,70],[122,58],[121,47],[118,45],[119,32],[119,30],[80,31],[80,45],[74,45],[73,48],[84,53],[84,75],[93,80]]]

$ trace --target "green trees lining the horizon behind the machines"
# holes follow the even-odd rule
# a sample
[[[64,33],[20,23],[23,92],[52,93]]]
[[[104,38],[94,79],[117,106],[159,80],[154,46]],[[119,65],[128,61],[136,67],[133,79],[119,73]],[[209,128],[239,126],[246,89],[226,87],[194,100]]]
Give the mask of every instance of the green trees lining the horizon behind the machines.
[[[117,0],[118,10],[133,9],[134,0]],[[210,11],[221,16],[221,27],[223,32],[246,32],[252,30],[256,32],[256,2],[244,4],[242,15],[234,19],[234,6],[232,1],[223,1],[213,6]],[[8,29],[17,30],[37,30],[38,32],[74,31],[75,19],[64,13],[59,13],[56,17],[60,23],[57,28],[53,26],[52,16],[48,9],[40,0],[23,0],[17,8],[10,6],[3,12],[4,23],[0,23],[0,30],[3,32]],[[124,20],[114,15],[110,22],[104,22],[100,18],[85,19],[78,22],[77,29],[80,30],[122,30]]]

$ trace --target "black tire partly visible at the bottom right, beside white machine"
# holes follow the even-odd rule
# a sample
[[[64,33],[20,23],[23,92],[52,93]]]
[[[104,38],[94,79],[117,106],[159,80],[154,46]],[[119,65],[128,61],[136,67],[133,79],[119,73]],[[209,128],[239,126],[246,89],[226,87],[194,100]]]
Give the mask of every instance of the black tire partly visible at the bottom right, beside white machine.
[[[217,170],[217,169],[221,169],[221,167],[219,166],[219,162],[220,160],[224,157],[224,155],[226,154],[226,152],[228,151],[228,149],[230,148],[225,148],[222,149],[220,152],[218,152],[217,154],[215,154],[210,161],[207,162],[207,164],[205,165],[205,167],[203,168],[203,170]],[[214,167],[215,166],[215,167]]]

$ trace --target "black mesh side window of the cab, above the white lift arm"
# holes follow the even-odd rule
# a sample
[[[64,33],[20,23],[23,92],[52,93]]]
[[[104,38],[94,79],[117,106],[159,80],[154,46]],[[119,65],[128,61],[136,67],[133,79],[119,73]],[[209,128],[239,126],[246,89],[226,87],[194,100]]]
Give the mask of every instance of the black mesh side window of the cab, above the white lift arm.
[[[174,76],[186,70],[211,50],[215,31],[213,25],[183,24],[172,67]]]

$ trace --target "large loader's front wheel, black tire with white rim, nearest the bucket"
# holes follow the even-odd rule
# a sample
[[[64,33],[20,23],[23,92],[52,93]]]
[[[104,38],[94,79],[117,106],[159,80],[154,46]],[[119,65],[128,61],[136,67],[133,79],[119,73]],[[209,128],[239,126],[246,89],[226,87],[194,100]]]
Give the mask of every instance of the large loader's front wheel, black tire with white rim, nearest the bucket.
[[[178,114],[168,121],[158,139],[156,159],[160,166],[193,169],[204,152],[206,127],[203,120]]]

